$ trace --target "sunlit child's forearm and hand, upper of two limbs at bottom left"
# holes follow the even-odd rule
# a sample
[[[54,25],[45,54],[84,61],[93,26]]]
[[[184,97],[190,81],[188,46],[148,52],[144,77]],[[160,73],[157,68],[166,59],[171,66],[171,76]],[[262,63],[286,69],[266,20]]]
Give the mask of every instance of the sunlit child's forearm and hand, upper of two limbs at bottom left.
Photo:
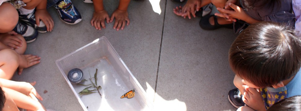
[[[1,83],[1,85],[0,85],[1,87],[13,89],[13,90],[23,93],[33,99],[36,99],[35,97],[37,97],[39,100],[43,101],[43,98],[38,94],[38,92],[33,87],[36,84],[36,82],[33,82],[33,83],[16,82],[16,81],[0,78],[0,83]]]

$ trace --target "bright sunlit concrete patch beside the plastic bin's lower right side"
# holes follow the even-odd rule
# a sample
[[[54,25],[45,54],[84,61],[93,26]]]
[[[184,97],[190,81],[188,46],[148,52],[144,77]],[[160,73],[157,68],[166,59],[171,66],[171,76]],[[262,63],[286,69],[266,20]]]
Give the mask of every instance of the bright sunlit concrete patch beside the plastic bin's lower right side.
[[[146,82],[146,93],[148,98],[154,98],[154,111],[186,111],[187,106],[185,102],[174,100],[165,100],[155,90],[150,87],[150,84]]]

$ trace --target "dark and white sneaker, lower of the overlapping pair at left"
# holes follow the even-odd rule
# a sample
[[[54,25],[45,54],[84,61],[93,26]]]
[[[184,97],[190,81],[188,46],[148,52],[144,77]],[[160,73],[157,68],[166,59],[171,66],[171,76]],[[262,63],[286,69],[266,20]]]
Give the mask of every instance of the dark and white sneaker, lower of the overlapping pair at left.
[[[18,34],[22,35],[26,40],[26,43],[34,42],[35,39],[38,37],[38,31],[21,21],[19,21],[13,31],[17,32]]]

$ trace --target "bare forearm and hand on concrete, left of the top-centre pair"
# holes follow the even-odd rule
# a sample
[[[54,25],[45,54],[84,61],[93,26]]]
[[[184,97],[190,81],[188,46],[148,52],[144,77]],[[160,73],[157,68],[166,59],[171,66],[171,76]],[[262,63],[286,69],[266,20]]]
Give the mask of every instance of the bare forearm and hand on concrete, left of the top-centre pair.
[[[93,0],[93,5],[94,13],[93,18],[91,19],[91,25],[97,30],[101,30],[101,26],[102,28],[106,28],[105,19],[106,22],[109,23],[110,17],[103,7],[103,0]]]

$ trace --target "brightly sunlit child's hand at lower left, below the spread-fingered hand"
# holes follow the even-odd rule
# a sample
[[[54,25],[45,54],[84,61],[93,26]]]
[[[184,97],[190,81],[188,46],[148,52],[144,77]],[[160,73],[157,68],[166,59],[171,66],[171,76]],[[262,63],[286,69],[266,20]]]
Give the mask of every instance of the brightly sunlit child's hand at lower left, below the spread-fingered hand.
[[[38,92],[35,90],[34,85],[36,82],[27,83],[27,82],[21,82],[22,84],[19,85],[19,92],[25,94],[26,96],[31,97],[32,99],[38,101],[43,101],[43,98],[38,94]],[[37,99],[38,98],[38,99]]]

